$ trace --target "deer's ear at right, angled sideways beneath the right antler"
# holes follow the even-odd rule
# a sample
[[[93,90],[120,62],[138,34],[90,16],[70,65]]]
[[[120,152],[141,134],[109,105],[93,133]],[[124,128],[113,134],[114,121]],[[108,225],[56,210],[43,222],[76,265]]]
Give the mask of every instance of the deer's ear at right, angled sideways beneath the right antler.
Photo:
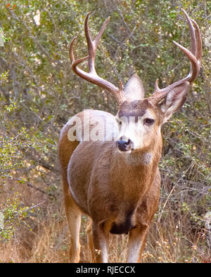
[[[184,104],[188,88],[189,83],[185,82],[179,86],[176,86],[167,94],[164,102],[160,104],[160,109],[164,113],[162,123],[165,123],[168,119],[170,119],[170,116],[172,116],[174,112],[177,112],[177,110]]]

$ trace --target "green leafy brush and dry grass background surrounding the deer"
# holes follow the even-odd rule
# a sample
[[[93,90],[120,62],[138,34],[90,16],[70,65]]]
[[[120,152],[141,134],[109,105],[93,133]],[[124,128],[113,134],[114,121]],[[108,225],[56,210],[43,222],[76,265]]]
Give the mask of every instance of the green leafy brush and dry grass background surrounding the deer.
[[[16,5],[13,8],[13,5]],[[10,9],[13,8],[13,9]],[[189,64],[172,41],[187,48],[190,35],[184,8],[200,25],[203,62],[184,107],[162,128],[160,208],[155,215],[144,262],[203,262],[210,257],[206,225],[210,196],[210,2],[198,1],[8,1],[0,3],[0,260],[64,262],[68,231],[63,211],[56,145],[62,126],[83,109],[115,114],[106,91],[73,74],[68,46],[86,54],[84,18],[96,35],[111,16],[98,46],[98,74],[125,84],[141,76],[146,94],[183,78]],[[40,22],[37,18],[40,16]],[[2,44],[2,43],[1,43]],[[86,69],[86,65],[84,64]],[[82,260],[89,251],[82,224]],[[208,226],[208,227],[207,227]],[[123,244],[126,240],[123,239]],[[113,241],[119,245],[120,241]],[[122,242],[122,241],[121,241]],[[15,249],[15,250],[14,250]],[[119,249],[115,247],[113,249]],[[122,253],[122,252],[121,252]],[[113,250],[111,259],[125,255]]]

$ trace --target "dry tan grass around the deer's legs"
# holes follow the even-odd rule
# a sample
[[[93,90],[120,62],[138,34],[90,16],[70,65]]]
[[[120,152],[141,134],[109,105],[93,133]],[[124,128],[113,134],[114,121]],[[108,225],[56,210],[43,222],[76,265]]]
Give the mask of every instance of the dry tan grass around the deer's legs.
[[[27,218],[32,230],[18,227],[14,238],[0,242],[0,262],[68,262],[69,234],[63,208],[63,197],[58,189],[56,198],[36,191],[25,184],[9,181],[1,188],[0,201],[13,197],[18,191],[25,205],[39,204],[39,210]],[[191,227],[185,225],[185,217],[155,221],[143,252],[143,262],[210,262],[209,249],[203,231],[195,236],[188,234]],[[85,226],[87,217],[82,217],[81,262],[89,262],[91,255],[87,245]],[[190,229],[188,229],[190,228]],[[192,240],[191,240],[192,239]],[[127,236],[113,236],[110,241],[110,262],[126,262]]]

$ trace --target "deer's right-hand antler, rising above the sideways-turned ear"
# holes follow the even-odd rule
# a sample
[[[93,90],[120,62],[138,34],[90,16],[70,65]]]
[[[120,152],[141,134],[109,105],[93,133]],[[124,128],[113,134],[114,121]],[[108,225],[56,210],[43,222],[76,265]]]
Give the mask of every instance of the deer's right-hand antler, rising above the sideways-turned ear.
[[[186,81],[189,82],[190,84],[193,83],[193,81],[196,79],[200,71],[201,58],[202,58],[202,39],[201,39],[200,29],[196,21],[194,21],[192,18],[189,18],[186,11],[184,11],[184,9],[181,9],[181,10],[184,12],[184,15],[186,16],[186,20],[188,22],[188,25],[191,31],[191,51],[184,48],[184,46],[181,46],[176,41],[173,41],[173,42],[186,54],[186,56],[190,60],[191,62],[190,72],[184,79],[181,79],[175,83],[172,83],[170,86],[167,86],[166,88],[162,88],[162,89],[158,87],[158,79],[156,79],[155,92],[151,97],[149,97],[149,101],[154,105],[158,104],[158,102],[160,102],[160,100],[162,100],[167,95],[167,93],[170,92],[170,90],[173,90],[176,86],[179,86],[181,83],[184,83]],[[196,33],[193,25],[196,28]]]

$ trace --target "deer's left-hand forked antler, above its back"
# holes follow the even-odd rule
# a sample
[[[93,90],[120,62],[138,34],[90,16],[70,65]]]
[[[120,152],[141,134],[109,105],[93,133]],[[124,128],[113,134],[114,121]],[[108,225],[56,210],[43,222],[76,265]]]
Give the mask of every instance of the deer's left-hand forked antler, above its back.
[[[70,50],[69,50],[70,60],[72,62],[72,70],[75,73],[77,73],[80,77],[82,77],[83,79],[85,79],[91,83],[95,83],[96,85],[101,86],[101,88],[108,90],[108,92],[111,93],[115,97],[117,102],[119,104],[121,104],[122,102],[124,102],[124,100],[126,100],[126,97],[123,93],[122,86],[120,86],[120,88],[117,88],[116,86],[113,85],[113,83],[110,83],[110,82],[102,79],[96,73],[96,69],[94,66],[94,62],[95,62],[95,58],[96,58],[96,48],[101,39],[101,36],[103,35],[104,30],[106,29],[106,25],[108,24],[110,17],[103,23],[96,38],[94,39],[94,41],[92,41],[90,34],[89,34],[89,27],[88,27],[89,15],[90,15],[90,12],[87,13],[87,16],[86,16],[85,22],[84,22],[84,31],[85,31],[85,36],[87,39],[87,48],[88,48],[89,55],[87,57],[75,60],[74,53],[73,53],[73,43],[74,43],[75,39],[77,38],[77,36],[75,36],[70,43]],[[87,59],[89,62],[89,72],[84,72],[84,70],[79,69],[79,67],[77,67],[77,65],[79,65],[79,63],[81,63]]]

